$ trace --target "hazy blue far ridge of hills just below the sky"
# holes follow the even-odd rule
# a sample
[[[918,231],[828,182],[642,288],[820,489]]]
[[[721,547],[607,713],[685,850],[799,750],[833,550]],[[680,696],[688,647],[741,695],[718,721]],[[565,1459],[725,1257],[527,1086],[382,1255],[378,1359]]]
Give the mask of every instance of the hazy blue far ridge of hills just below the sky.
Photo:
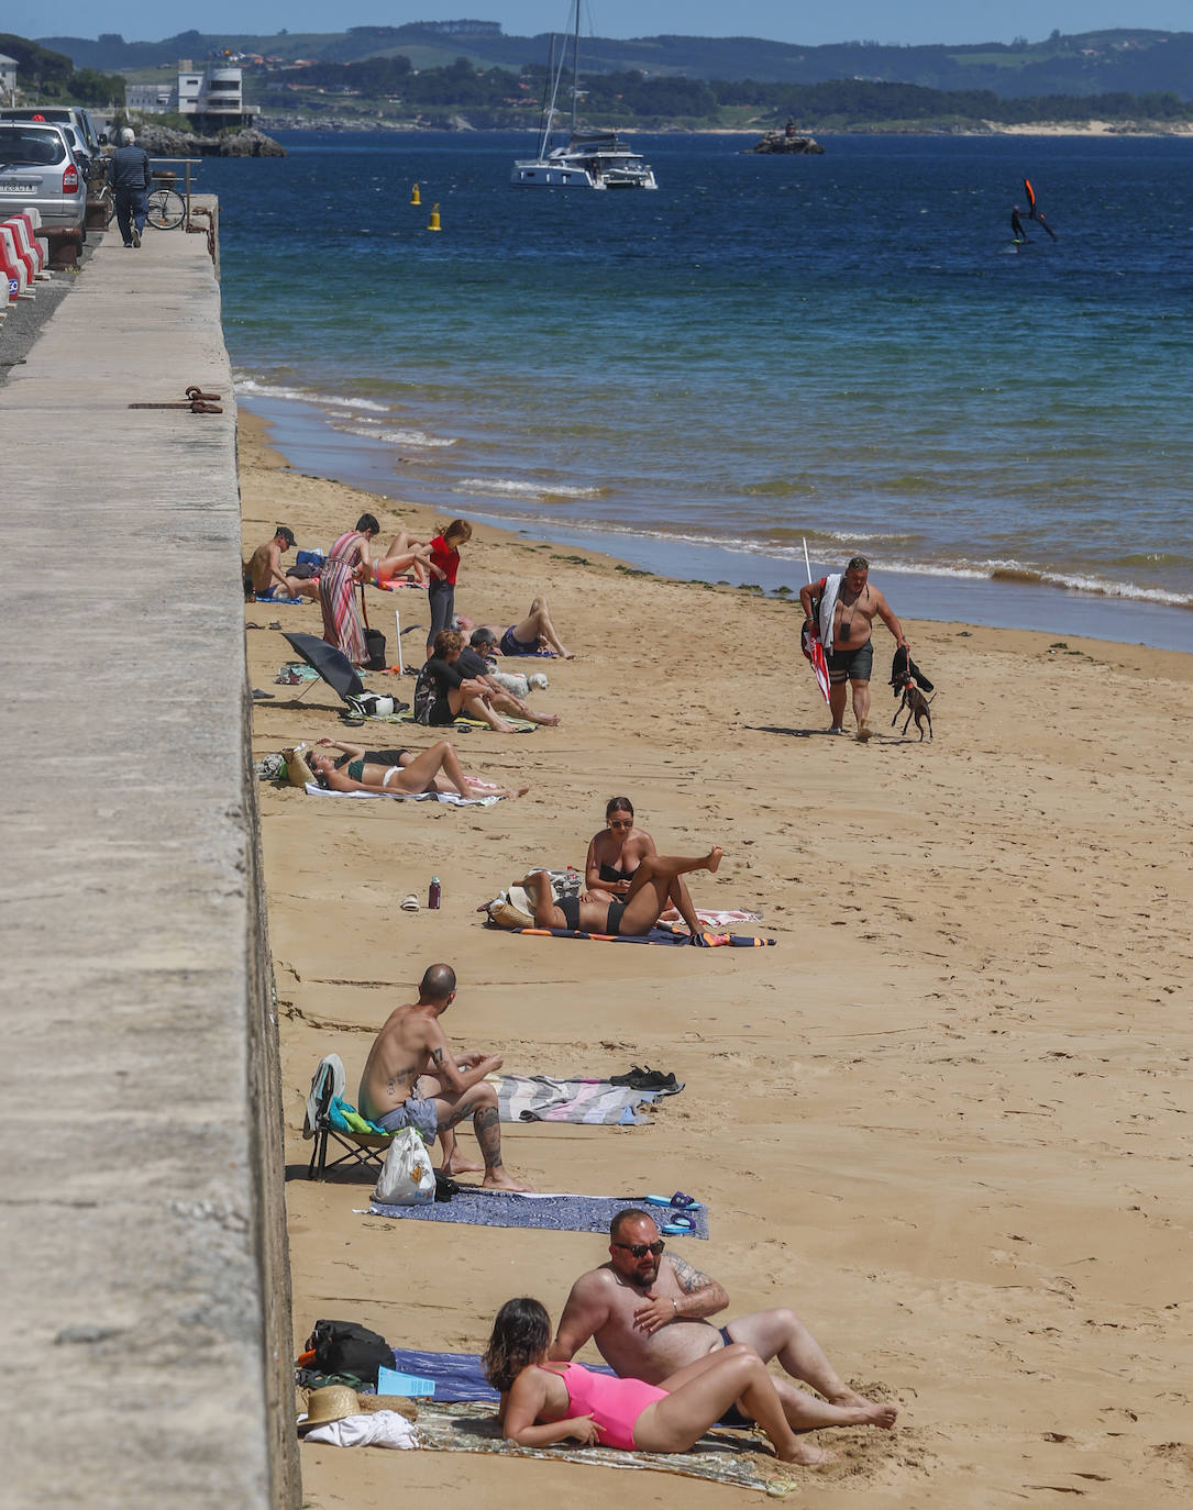
[[[76,68],[106,72],[195,62],[216,50],[258,53],[281,62],[314,59],[350,63],[365,57],[405,56],[414,68],[435,68],[467,57],[474,68],[542,65],[547,36],[504,36],[486,21],[358,26],[334,33],[240,36],[181,32],[160,42],[125,42],[115,33],[98,41],[44,36],[42,47],[65,53]],[[1042,95],[1151,95],[1193,98],[1193,33],[1124,27],[1110,32],[1060,32],[1042,42],[1019,38],[965,47],[877,47],[835,42],[799,47],[754,36],[581,38],[581,65],[589,74],[639,69],[652,76],[815,85],[838,79],[918,85],[938,91],[991,91],[1004,100]]]

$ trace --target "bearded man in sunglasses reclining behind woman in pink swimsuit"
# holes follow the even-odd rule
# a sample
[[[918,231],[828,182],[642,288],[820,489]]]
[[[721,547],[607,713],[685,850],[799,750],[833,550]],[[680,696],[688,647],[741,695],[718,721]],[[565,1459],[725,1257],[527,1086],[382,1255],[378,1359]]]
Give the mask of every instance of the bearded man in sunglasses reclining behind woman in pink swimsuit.
[[[812,1431],[822,1425],[879,1425],[889,1430],[894,1406],[867,1400],[850,1389],[825,1357],[820,1344],[793,1311],[755,1311],[717,1330],[705,1317],[723,1311],[725,1290],[672,1253],[654,1217],[628,1208],[613,1217],[609,1262],[581,1274],[572,1285],[550,1356],[557,1364],[572,1356],[592,1338],[601,1357],[622,1379],[645,1379],[657,1385],[698,1357],[729,1342],[744,1342],[769,1364],[778,1357],[791,1379],[803,1380],[825,1397],[818,1400],[776,1377],[775,1389],[793,1431]],[[740,1412],[740,1401],[738,1401]],[[749,1415],[726,1424],[751,1425]],[[826,1456],[818,1447],[805,1445],[803,1463],[820,1463]]]

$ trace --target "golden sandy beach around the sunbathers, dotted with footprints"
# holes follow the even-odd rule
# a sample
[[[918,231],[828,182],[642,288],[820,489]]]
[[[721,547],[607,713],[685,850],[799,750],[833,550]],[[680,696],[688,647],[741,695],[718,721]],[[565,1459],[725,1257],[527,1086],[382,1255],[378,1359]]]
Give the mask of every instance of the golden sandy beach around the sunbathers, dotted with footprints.
[[[326,550],[365,507],[384,532],[432,522],[288,470],[243,414],[240,445],[246,550],[278,521]],[[465,770],[532,793],[453,809],[261,787],[296,1353],[320,1317],[476,1351],[506,1299],[538,1296],[557,1318],[606,1256],[584,1234],[359,1216],[365,1176],[307,1181],[319,1057],[340,1054],[355,1099],[378,1027],[447,960],[455,1048],[498,1051],[513,1074],[649,1063],[686,1083],[648,1126],[504,1128],[515,1173],[539,1190],[699,1196],[710,1241],[672,1244],[729,1291],[719,1320],[791,1306],[843,1376],[899,1403],[891,1433],[822,1431],[840,1462],[794,1471],[793,1504],[1185,1505],[1193,658],[917,622],[880,562],[871,577],[939,689],[932,743],[889,728],[880,627],[877,737],[862,746],[826,734],[797,607],[482,525],[458,607],[504,625],[544,592],[578,657],[542,663],[551,686],[533,701],[560,728],[456,740]],[[368,607],[391,660],[394,607],[427,622],[415,592],[370,592]],[[343,731],[328,689],[275,686],[291,655],[269,625],[319,634],[317,606],[254,602],[245,618],[251,686],[275,695],[255,710],[258,758],[320,735],[432,743],[421,728]],[[403,645],[417,663],[421,634]],[[370,686],[409,701],[414,683]],[[530,864],[583,865],[619,793],[660,852],[722,844],[696,904],[760,911],[778,947],[482,927],[477,906]],[[432,873],[442,909],[402,912]],[[461,1143],[474,1152],[470,1132]],[[610,1469],[530,1459],[313,1444],[301,1459],[313,1510],[449,1484],[510,1510],[618,1492]],[[634,1483],[661,1504],[760,1498]]]

